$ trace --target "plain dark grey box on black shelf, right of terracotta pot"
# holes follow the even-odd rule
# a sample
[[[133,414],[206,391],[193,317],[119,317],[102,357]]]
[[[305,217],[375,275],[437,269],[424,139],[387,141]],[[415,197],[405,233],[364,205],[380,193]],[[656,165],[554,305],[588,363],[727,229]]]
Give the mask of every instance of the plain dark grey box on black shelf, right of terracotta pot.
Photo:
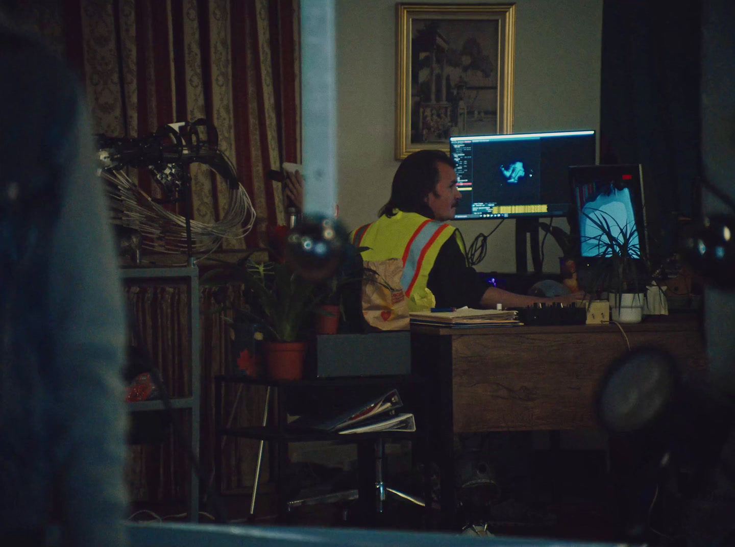
[[[411,332],[318,335],[312,378],[394,376],[411,373]]]

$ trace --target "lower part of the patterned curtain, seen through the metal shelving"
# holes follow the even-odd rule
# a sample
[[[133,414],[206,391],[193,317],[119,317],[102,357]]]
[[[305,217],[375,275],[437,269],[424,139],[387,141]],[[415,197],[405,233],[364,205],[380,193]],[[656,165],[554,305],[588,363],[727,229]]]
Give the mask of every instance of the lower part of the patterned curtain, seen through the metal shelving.
[[[126,287],[129,310],[135,321],[132,343],[148,354],[151,363],[159,369],[171,397],[191,393],[189,371],[182,363],[190,362],[190,340],[187,335],[188,301],[186,286],[162,282],[130,283]],[[232,312],[221,312],[224,307],[243,305],[241,290],[227,293],[211,287],[201,290],[201,429],[199,459],[201,468],[200,493],[207,496],[207,488],[214,486],[214,447],[223,443],[223,493],[249,493],[253,485],[257,462],[258,442],[235,437],[217,437],[214,430],[215,396],[214,376],[232,371],[232,335],[223,315],[232,318]],[[265,388],[226,383],[223,386],[223,422],[233,428],[259,426],[265,410]],[[132,418],[134,429],[162,419],[162,412],[137,413]],[[188,412],[176,411],[176,420],[184,435],[190,431]],[[165,430],[156,437],[157,444],[131,446],[127,469],[128,484],[133,501],[176,501],[186,507],[190,468],[187,446],[182,439]],[[187,439],[188,440],[188,437]],[[223,442],[224,441],[224,442]],[[268,479],[268,451],[262,460],[261,481]],[[206,506],[202,507],[206,510]],[[231,518],[243,515],[230,515]],[[205,519],[206,520],[206,519]]]

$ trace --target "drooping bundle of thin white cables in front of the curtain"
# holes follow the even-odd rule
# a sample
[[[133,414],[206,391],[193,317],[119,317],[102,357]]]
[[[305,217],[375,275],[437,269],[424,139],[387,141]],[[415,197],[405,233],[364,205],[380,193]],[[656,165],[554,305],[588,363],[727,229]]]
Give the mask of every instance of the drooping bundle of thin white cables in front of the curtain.
[[[110,182],[112,222],[137,229],[143,235],[143,247],[158,252],[187,251],[186,219],[166,210],[132,182],[123,171],[102,169],[101,176]],[[255,224],[255,209],[242,185],[230,185],[229,204],[221,221],[214,224],[192,220],[192,251],[209,253],[225,238],[245,237]]]

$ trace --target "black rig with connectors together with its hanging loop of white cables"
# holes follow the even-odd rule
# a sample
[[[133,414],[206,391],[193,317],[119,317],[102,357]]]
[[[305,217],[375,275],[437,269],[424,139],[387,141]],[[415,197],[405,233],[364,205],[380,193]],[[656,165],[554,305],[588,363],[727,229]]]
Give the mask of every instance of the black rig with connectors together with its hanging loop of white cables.
[[[203,118],[161,126],[151,135],[134,139],[97,135],[97,148],[99,174],[109,183],[112,223],[139,231],[146,249],[185,251],[189,257],[193,252],[208,255],[221,246],[223,239],[239,239],[253,229],[256,212],[251,199],[237,179],[232,160],[218,149],[217,129]],[[228,186],[227,209],[213,224],[192,218],[191,175],[187,169],[193,164],[206,165]],[[166,199],[148,196],[123,171],[129,167],[148,169]],[[185,217],[162,207],[176,202],[187,207]]]

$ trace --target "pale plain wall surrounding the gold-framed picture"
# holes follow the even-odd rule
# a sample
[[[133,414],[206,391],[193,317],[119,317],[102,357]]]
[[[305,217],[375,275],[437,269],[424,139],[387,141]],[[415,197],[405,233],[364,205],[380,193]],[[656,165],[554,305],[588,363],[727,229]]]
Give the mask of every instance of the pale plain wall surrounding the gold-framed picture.
[[[340,217],[348,229],[375,220],[398,168],[395,4],[337,0],[337,168]],[[601,37],[602,0],[517,0],[514,132],[599,130]],[[454,224],[469,245],[497,222]],[[560,254],[549,237],[546,271],[559,271]],[[487,257],[477,268],[515,270],[514,221],[488,240]]]

